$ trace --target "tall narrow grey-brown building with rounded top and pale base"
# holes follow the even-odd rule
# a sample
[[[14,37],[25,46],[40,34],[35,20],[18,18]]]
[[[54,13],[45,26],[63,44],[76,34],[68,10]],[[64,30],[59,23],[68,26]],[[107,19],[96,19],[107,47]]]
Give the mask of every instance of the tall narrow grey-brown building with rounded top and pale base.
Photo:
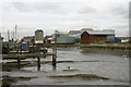
[[[44,44],[44,32],[41,29],[35,30],[35,44]]]

